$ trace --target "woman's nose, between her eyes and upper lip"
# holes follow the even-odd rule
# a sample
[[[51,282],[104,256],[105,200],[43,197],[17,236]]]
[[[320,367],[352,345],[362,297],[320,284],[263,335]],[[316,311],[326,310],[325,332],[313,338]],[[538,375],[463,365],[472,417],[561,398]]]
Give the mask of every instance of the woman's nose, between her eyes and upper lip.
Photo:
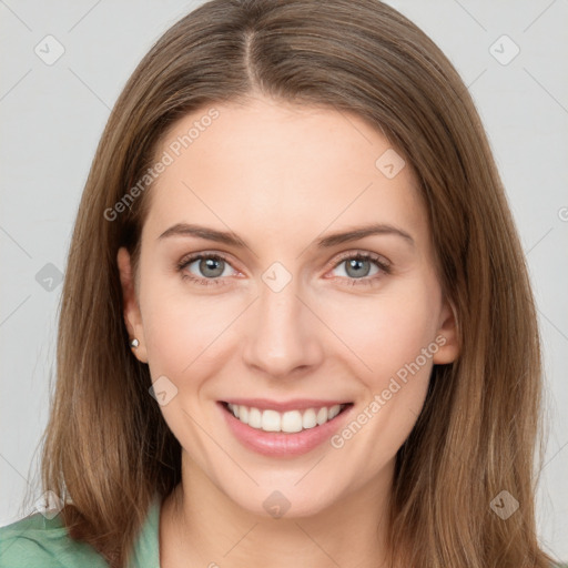
[[[250,308],[243,358],[268,377],[313,372],[323,361],[325,326],[295,283],[293,278],[278,292],[261,283],[260,297]]]

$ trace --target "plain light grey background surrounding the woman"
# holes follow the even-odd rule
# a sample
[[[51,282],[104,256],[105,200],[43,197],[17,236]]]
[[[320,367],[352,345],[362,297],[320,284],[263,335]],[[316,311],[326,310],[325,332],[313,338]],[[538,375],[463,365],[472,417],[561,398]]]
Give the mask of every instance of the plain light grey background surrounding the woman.
[[[201,3],[0,0],[0,525],[30,513],[20,508],[29,484],[40,495],[34,450],[54,369],[58,274],[97,143],[139,60]],[[568,2],[388,3],[428,33],[460,72],[507,187],[545,348],[549,440],[538,490],[539,536],[545,549],[567,559]],[[57,54],[58,43],[44,40],[48,34],[64,49],[51,65],[44,60]],[[504,64],[515,45],[520,52]]]

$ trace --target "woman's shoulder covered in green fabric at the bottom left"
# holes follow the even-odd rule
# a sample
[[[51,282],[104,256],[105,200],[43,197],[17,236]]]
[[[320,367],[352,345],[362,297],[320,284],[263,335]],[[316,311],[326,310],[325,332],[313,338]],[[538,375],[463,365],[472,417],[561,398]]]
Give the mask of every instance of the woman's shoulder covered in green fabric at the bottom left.
[[[60,516],[40,513],[0,527],[0,568],[108,568],[104,559],[85,542],[72,539]]]

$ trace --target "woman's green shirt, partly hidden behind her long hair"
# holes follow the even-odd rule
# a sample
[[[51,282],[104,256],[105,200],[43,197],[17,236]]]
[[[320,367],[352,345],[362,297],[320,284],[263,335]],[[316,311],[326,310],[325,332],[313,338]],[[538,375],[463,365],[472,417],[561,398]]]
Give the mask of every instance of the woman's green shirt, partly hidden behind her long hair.
[[[156,494],[134,541],[129,568],[160,568],[160,505]],[[109,568],[87,542],[72,539],[61,515],[52,519],[34,513],[0,527],[0,568]]]

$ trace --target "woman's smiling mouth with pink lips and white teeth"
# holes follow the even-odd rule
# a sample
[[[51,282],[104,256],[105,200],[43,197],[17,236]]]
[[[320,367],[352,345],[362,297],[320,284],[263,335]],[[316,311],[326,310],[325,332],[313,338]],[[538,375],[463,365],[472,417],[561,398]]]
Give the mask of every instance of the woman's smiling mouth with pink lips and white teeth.
[[[217,402],[233,436],[247,449],[271,457],[293,457],[311,452],[346,423],[354,407],[354,403],[302,402],[296,407],[291,406],[293,403],[256,404],[258,406]],[[274,406],[287,409],[277,410]]]

